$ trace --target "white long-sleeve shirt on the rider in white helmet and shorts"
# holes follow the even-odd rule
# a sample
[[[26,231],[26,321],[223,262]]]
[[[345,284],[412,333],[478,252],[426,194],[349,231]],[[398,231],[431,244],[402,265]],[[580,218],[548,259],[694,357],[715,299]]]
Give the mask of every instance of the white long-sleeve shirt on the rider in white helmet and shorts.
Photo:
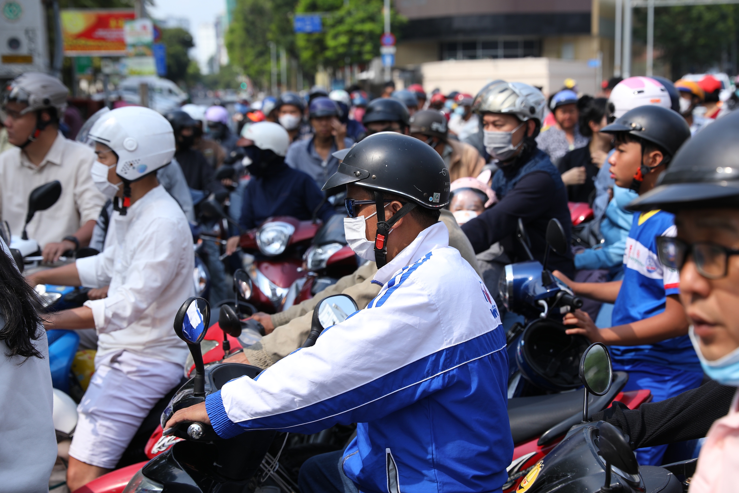
[[[103,253],[77,260],[82,285],[109,285],[85,302],[98,331],[98,356],[129,350],[184,364],[187,347],[172,323],[195,296],[192,234],[180,205],[157,186],[121,216],[113,213]]]

